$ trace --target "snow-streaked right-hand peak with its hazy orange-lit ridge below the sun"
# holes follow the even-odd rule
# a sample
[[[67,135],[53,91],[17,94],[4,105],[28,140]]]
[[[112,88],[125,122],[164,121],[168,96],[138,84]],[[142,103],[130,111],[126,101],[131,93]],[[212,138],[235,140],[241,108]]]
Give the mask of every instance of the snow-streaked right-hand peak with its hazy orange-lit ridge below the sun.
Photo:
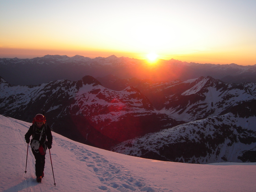
[[[106,80],[106,78],[104,78]],[[200,119],[209,115],[218,115],[234,102],[252,99],[256,95],[256,87],[252,82],[229,84],[210,76],[175,80],[171,82],[153,82],[149,79],[118,79],[108,76],[108,83],[104,87],[121,90],[133,86],[141,91],[152,102],[157,110],[187,121]],[[193,109],[199,108],[197,111]],[[203,110],[204,109],[204,110]],[[193,111],[193,112],[192,112]],[[190,114],[190,117],[187,117]],[[184,115],[183,115],[184,116]]]

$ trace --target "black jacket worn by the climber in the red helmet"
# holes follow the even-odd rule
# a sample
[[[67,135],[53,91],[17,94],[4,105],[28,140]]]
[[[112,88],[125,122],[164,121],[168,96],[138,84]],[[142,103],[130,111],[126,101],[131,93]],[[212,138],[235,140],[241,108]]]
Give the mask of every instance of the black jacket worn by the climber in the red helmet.
[[[41,128],[37,127],[36,124],[31,125],[28,129],[28,132],[25,134],[25,140],[29,141],[30,136],[32,136],[32,139],[31,139],[30,143],[32,143],[33,140],[38,140],[39,141],[42,129],[43,129],[43,132],[42,132],[42,137],[41,137],[41,140],[40,140],[40,144],[46,150],[46,146],[48,146],[49,144],[50,145],[52,144],[51,128],[46,123],[44,123]]]

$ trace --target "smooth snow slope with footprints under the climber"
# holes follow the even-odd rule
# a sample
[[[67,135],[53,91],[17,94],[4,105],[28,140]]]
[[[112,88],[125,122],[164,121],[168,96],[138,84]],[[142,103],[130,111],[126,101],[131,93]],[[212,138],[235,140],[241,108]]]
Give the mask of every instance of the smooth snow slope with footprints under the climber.
[[[0,191],[83,192],[252,192],[256,163],[214,165],[162,162],[105,151],[53,132],[42,183],[37,183],[29,146],[27,173],[24,135],[30,123],[0,115]]]

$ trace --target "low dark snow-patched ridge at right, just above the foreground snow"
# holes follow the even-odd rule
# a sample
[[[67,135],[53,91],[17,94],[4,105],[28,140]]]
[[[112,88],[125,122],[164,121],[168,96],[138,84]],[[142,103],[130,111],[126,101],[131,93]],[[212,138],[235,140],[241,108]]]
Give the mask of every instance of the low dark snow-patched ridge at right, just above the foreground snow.
[[[125,141],[112,151],[184,163],[256,162],[256,102],[221,116],[182,124]],[[236,108],[236,109],[238,109]]]

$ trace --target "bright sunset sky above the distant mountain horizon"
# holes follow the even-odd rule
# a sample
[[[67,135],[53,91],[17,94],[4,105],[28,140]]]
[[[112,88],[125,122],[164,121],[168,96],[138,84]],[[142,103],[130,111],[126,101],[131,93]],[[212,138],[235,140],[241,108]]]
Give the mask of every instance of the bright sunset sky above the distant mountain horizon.
[[[0,0],[0,58],[256,64],[256,0]]]

